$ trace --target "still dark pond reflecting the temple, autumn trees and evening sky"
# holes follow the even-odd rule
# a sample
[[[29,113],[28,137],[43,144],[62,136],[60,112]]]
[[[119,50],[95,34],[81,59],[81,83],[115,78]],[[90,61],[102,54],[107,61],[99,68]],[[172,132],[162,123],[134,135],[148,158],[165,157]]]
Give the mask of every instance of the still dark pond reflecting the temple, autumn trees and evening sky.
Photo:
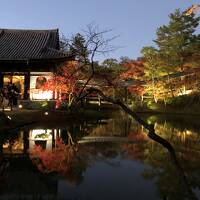
[[[200,199],[199,117],[149,116],[173,149],[122,111],[0,137],[0,199]]]

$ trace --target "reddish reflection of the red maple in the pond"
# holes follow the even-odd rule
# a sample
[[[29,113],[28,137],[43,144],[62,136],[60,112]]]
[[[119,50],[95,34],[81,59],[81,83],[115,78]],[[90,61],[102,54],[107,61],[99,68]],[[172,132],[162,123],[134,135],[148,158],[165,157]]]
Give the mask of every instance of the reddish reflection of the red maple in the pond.
[[[66,176],[70,182],[78,183],[87,167],[85,156],[78,154],[75,146],[65,145],[58,138],[53,150],[44,150],[41,146],[35,146],[30,152],[30,158],[40,171],[57,172]]]

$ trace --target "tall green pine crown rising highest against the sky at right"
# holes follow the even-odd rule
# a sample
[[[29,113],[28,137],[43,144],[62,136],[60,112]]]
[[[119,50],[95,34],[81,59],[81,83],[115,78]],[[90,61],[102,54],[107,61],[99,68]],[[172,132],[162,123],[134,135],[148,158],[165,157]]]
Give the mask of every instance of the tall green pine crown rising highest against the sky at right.
[[[194,46],[199,42],[195,30],[200,17],[186,15],[179,9],[169,15],[168,25],[157,30],[155,43],[159,47],[160,57],[166,66],[166,72],[183,71],[194,53]]]

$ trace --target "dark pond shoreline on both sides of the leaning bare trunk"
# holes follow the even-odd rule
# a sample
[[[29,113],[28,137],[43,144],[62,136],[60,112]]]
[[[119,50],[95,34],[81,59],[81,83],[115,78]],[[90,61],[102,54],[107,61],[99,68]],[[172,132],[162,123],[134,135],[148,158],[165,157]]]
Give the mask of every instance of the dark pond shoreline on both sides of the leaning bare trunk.
[[[0,132],[2,131],[14,131],[24,126],[28,126],[35,123],[53,123],[63,124],[69,120],[80,121],[82,119],[101,119],[110,116],[113,110],[81,110],[78,113],[69,112],[65,110],[25,110],[17,109],[14,111],[6,111],[5,115],[9,118],[10,124],[1,124]],[[135,111],[138,115],[170,115],[170,116],[200,116],[200,113],[194,112],[166,112],[166,111],[154,111],[144,110]]]

